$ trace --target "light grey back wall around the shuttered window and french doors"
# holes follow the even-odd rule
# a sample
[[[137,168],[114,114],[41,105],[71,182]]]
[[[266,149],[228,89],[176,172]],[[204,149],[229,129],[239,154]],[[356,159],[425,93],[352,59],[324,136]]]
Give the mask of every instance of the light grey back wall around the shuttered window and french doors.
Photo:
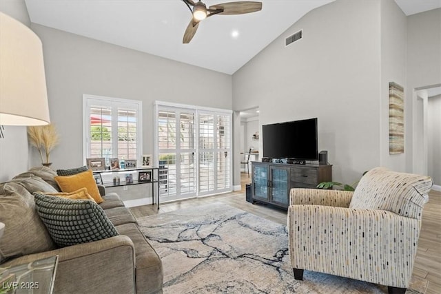
[[[51,120],[61,136],[51,156],[54,169],[84,162],[83,94],[143,101],[143,154],[154,150],[154,101],[232,109],[232,78],[227,74],[34,23],[32,29],[43,42]]]

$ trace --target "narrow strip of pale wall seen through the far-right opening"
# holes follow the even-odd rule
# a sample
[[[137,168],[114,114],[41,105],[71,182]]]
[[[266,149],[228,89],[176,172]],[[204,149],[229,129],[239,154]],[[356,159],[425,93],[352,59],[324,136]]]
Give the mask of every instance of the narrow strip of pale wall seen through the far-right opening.
[[[428,171],[433,184],[441,186],[441,96],[428,99]]]

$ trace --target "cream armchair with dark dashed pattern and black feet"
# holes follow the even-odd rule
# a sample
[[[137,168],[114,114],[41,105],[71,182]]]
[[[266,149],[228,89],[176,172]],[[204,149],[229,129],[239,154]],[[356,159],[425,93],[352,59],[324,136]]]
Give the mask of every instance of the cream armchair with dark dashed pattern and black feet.
[[[428,176],[378,167],[354,192],[291,189],[289,257],[296,280],[306,269],[405,293],[431,187]]]

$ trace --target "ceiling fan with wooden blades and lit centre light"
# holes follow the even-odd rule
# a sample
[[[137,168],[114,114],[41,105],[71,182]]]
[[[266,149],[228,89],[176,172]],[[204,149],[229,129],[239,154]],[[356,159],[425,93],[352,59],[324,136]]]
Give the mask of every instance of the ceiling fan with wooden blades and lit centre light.
[[[207,6],[202,1],[194,2],[193,0],[182,0],[192,12],[192,19],[185,30],[182,43],[187,44],[192,41],[196,30],[198,30],[199,23],[211,17],[214,14],[245,14],[262,10],[262,3],[255,1],[238,1],[229,3],[220,3],[214,6]]]

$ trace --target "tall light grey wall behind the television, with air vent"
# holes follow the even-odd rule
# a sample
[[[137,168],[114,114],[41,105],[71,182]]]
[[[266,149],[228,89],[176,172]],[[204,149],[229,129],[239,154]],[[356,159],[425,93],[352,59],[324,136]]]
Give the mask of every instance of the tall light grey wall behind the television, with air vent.
[[[309,12],[233,75],[234,109],[259,105],[260,125],[317,117],[334,180],[358,180],[380,165],[379,34],[379,1]]]

